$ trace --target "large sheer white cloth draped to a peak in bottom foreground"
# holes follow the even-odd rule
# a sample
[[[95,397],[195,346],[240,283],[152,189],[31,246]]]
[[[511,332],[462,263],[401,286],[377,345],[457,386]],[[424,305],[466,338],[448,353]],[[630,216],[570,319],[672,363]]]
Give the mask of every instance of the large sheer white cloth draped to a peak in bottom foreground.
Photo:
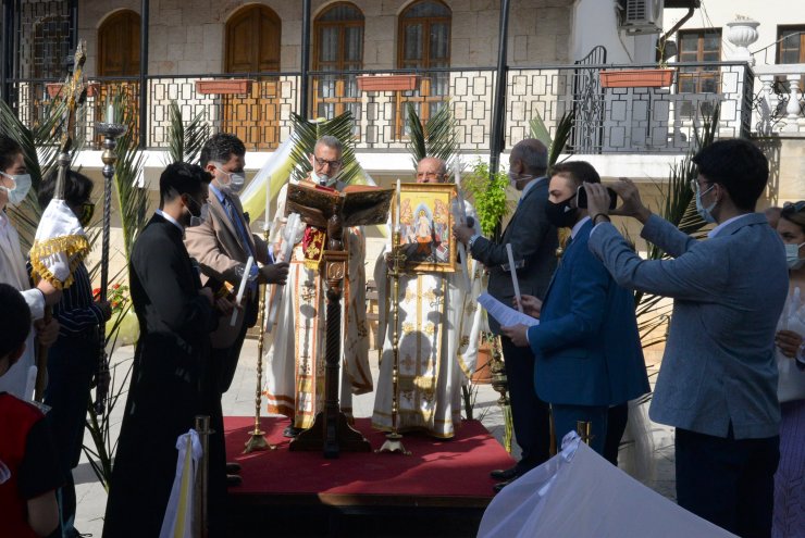
[[[734,536],[634,480],[574,431],[561,447],[495,496],[479,538]]]

